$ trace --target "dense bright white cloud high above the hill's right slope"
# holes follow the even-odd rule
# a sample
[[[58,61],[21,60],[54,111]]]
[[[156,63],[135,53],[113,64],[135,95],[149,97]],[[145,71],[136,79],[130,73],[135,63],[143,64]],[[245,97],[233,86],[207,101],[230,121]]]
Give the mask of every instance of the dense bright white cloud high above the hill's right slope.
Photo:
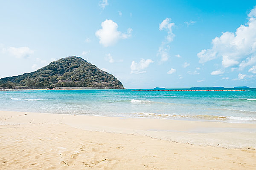
[[[118,25],[113,20],[105,20],[101,26],[102,29],[96,31],[95,35],[99,38],[99,43],[105,47],[115,44],[119,39],[131,37],[131,28],[127,29],[127,33],[121,33],[117,31]]]

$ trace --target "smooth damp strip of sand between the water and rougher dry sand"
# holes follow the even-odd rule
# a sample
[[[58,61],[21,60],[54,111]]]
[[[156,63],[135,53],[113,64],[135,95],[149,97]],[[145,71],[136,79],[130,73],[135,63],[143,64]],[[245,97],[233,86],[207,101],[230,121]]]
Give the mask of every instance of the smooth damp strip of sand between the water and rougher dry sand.
[[[201,146],[256,148],[256,124],[13,111],[0,111],[0,117],[1,126],[33,122],[67,124],[82,130],[147,135],[161,140]],[[50,120],[51,118],[54,120]],[[31,123],[26,119],[31,120]]]

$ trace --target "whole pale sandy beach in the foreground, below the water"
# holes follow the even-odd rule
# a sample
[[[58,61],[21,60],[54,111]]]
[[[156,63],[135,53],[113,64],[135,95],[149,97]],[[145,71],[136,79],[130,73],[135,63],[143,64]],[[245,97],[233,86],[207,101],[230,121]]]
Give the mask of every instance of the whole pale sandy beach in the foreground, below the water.
[[[255,170],[255,148],[256,124],[0,111],[3,170]]]

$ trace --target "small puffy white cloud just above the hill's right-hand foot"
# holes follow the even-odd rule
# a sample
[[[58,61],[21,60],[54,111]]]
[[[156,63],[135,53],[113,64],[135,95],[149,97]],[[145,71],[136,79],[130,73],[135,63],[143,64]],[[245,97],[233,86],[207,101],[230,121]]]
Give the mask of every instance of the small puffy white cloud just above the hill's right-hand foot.
[[[154,63],[151,59],[141,59],[139,63],[136,63],[135,61],[131,62],[131,74],[140,74],[144,73],[144,69],[146,69],[150,63]]]

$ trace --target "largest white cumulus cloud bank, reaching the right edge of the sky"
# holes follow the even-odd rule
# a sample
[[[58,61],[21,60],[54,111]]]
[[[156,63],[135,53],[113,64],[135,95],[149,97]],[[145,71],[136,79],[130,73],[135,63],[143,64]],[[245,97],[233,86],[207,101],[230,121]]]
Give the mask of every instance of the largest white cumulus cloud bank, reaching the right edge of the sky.
[[[246,25],[241,25],[236,32],[223,32],[220,37],[212,40],[211,49],[199,52],[200,63],[222,57],[224,68],[238,65],[256,53],[256,7],[248,14]],[[242,63],[243,65],[244,63]]]

